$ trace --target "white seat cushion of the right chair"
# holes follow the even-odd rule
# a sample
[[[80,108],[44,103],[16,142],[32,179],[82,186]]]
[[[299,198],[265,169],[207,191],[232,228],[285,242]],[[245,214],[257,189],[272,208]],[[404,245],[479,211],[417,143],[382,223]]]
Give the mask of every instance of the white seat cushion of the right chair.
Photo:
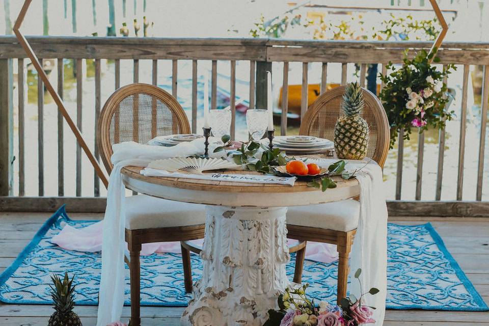
[[[348,199],[327,204],[289,207],[287,224],[346,232],[358,227],[359,215],[360,203]]]

